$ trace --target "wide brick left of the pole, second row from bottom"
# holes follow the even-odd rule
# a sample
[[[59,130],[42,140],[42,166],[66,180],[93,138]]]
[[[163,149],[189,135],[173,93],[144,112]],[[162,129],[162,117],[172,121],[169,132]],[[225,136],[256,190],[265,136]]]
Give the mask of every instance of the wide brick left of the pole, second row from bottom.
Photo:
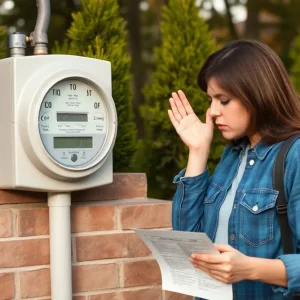
[[[19,240],[0,242],[0,268],[48,265],[49,240]]]

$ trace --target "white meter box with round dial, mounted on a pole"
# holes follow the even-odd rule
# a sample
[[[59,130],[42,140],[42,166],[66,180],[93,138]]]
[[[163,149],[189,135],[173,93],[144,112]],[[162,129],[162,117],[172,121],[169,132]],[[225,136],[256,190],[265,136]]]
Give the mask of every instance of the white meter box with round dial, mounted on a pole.
[[[110,62],[0,61],[0,188],[74,191],[112,182],[117,114]]]

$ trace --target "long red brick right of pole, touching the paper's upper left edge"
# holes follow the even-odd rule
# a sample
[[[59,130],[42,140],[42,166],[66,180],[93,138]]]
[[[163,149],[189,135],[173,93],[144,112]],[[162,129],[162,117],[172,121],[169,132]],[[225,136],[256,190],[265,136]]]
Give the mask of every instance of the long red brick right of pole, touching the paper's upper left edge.
[[[143,257],[151,253],[135,233],[76,237],[76,249],[77,261],[118,257]]]

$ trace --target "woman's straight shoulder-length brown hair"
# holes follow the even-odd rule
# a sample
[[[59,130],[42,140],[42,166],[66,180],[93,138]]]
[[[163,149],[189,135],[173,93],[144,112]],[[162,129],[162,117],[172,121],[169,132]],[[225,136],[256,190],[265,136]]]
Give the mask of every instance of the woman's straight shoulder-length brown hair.
[[[300,101],[277,54],[268,46],[239,40],[209,56],[198,75],[207,92],[214,77],[220,88],[248,109],[265,143],[276,143],[300,131]]]

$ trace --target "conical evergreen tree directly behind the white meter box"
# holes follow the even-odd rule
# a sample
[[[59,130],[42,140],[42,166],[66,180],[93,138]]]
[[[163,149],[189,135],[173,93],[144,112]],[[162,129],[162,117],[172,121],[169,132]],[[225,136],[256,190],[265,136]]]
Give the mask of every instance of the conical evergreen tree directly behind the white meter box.
[[[130,57],[124,19],[117,0],[82,0],[80,10],[62,45],[53,53],[107,60],[112,67],[112,96],[118,114],[118,135],[113,151],[114,171],[128,171],[135,152],[136,129],[132,113]],[[100,70],[99,70],[100,72]]]

